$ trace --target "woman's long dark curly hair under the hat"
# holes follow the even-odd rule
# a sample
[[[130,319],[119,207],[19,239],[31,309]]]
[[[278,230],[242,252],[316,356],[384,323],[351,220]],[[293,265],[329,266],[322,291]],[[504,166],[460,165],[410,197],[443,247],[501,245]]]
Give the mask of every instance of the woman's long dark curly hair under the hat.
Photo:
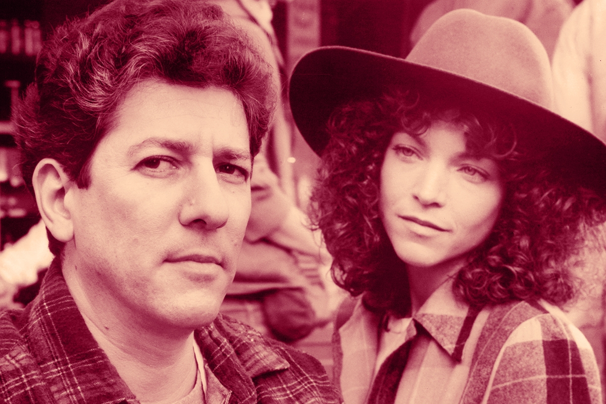
[[[499,219],[470,252],[454,280],[454,294],[470,305],[545,299],[562,305],[574,296],[569,268],[594,226],[606,220],[604,201],[562,181],[550,160],[530,151],[520,133],[485,108],[395,91],[351,101],[328,122],[311,217],[333,255],[335,282],[370,310],[404,316],[410,308],[405,263],[396,256],[379,213],[385,150],[396,131],[424,133],[436,120],[465,131],[467,148],[499,164],[505,187]]]

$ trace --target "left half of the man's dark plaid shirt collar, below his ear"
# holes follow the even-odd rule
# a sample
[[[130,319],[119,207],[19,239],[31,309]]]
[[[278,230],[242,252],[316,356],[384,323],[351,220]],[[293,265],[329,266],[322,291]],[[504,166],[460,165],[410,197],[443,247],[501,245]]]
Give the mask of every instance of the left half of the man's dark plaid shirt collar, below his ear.
[[[52,391],[78,401],[136,402],[93,338],[70,294],[58,259],[50,265],[36,299],[26,309],[28,343]]]

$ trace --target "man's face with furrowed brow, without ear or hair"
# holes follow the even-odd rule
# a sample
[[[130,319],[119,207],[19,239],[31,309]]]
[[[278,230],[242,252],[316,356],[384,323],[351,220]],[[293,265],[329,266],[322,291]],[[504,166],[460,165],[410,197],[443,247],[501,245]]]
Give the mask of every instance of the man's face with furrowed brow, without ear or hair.
[[[64,271],[93,310],[155,327],[215,319],[250,214],[248,141],[230,91],[146,81],[127,94],[90,187],[65,196]]]

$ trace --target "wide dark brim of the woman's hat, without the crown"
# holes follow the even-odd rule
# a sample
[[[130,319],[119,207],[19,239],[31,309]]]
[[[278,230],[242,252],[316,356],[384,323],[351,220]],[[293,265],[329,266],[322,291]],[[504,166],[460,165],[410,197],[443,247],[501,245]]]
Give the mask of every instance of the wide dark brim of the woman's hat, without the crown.
[[[322,47],[303,56],[293,70],[290,108],[305,141],[321,155],[335,108],[375,98],[390,87],[411,86],[498,110],[520,133],[532,134],[521,139],[530,150],[548,154],[561,173],[606,195],[606,145],[597,137],[541,105],[448,71],[366,50]]]

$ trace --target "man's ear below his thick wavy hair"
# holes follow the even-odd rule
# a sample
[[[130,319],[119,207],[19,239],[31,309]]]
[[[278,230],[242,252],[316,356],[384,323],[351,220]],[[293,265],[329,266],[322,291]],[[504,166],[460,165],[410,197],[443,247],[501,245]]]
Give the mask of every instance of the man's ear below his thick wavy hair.
[[[73,238],[72,213],[65,195],[75,183],[69,179],[61,164],[45,158],[38,162],[32,176],[36,204],[44,224],[55,238],[68,242]]]

